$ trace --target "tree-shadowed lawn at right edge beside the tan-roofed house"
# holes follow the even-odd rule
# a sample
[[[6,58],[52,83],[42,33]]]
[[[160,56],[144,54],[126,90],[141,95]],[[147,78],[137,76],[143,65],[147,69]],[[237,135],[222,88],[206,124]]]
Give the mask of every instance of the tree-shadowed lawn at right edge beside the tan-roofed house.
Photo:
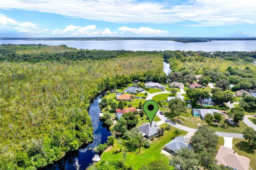
[[[244,139],[233,138],[233,149],[238,155],[250,159],[250,166],[256,170],[256,148],[252,148]]]

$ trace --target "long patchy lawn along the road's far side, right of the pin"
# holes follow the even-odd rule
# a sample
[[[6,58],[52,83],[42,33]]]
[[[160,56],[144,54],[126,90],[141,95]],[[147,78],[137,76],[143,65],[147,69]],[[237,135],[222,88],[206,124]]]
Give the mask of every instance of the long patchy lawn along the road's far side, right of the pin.
[[[180,115],[179,120],[183,122],[182,125],[186,127],[196,128],[196,129],[201,125],[208,125],[208,123],[206,123],[206,121],[202,121],[200,117],[192,116],[191,112],[192,112],[192,109],[186,109],[186,113],[182,113]],[[170,120],[178,118],[178,116],[173,117],[170,113],[164,113],[164,115],[168,117]],[[217,123],[213,122],[210,125],[208,125],[208,127],[218,132],[232,132],[232,133],[242,133],[242,131],[244,131],[245,128],[248,127],[242,121],[240,121],[238,125],[232,125],[232,124],[226,123],[225,127],[223,127],[222,125],[224,124],[225,119],[226,118],[222,116],[222,120],[220,121],[220,123],[218,123],[218,125]]]

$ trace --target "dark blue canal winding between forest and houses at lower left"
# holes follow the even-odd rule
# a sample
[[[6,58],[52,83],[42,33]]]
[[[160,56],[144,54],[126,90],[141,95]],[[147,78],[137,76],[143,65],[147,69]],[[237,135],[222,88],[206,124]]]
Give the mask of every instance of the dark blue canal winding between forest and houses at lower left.
[[[92,149],[94,146],[104,143],[107,141],[108,136],[110,136],[110,131],[106,127],[102,127],[102,122],[100,122],[99,114],[100,108],[98,106],[98,101],[100,97],[94,99],[93,103],[90,105],[89,115],[92,119],[92,127],[94,141],[91,144],[84,144],[81,146],[79,150],[68,152],[64,158],[54,162],[54,164],[50,164],[43,168],[43,170],[75,170],[73,166],[75,162],[75,158],[78,159],[79,164],[81,165],[80,170],[85,170],[90,163],[92,163],[92,158],[94,156],[94,152]],[[89,150],[88,148],[92,148]]]

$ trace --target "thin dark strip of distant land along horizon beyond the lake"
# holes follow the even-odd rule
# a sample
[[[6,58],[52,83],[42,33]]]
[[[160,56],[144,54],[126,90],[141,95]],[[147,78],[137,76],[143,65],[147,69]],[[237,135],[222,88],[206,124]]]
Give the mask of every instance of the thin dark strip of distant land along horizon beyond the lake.
[[[256,40],[255,38],[200,38],[200,37],[83,37],[83,38],[0,38],[0,40],[44,40],[44,41],[106,41],[106,40],[160,40],[160,41],[175,41],[181,43],[194,43],[194,42],[210,42],[217,40],[239,41],[239,40]]]

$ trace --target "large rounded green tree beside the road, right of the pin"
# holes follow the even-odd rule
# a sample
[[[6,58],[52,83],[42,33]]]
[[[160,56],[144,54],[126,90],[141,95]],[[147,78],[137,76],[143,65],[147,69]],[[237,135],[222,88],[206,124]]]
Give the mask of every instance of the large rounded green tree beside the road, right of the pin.
[[[186,110],[186,102],[180,98],[174,98],[169,101],[169,109],[171,114],[178,116],[179,121],[180,115]]]

